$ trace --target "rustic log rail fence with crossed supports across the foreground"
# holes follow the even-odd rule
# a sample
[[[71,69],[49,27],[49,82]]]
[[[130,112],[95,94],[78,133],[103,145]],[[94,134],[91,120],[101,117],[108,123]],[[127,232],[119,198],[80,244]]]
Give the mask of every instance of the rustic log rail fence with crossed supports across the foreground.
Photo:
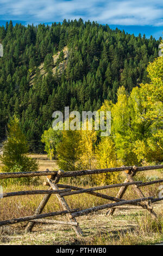
[[[152,184],[158,184],[163,182],[163,179],[149,181],[149,182],[142,182],[142,181],[135,181],[134,176],[136,172],[142,172],[145,170],[153,170],[153,169],[163,169],[163,165],[159,166],[143,166],[143,167],[135,167],[135,166],[123,166],[118,168],[105,168],[105,169],[93,169],[93,170],[77,170],[74,172],[64,172],[63,170],[58,170],[54,172],[50,172],[48,169],[45,172],[26,172],[26,173],[0,173],[0,179],[9,179],[9,178],[21,178],[21,177],[33,177],[33,176],[46,176],[47,182],[44,182],[43,185],[49,186],[48,190],[33,190],[33,191],[18,191],[18,192],[10,192],[10,193],[3,193],[2,198],[3,200],[5,197],[15,197],[15,196],[24,196],[29,194],[45,194],[42,201],[40,202],[38,208],[35,210],[33,216],[27,217],[20,217],[14,218],[12,220],[5,220],[0,221],[0,227],[2,225],[9,225],[15,224],[18,222],[27,222],[26,232],[32,231],[35,223],[51,223],[51,224],[64,224],[64,225],[71,225],[74,231],[76,232],[77,236],[83,235],[82,230],[80,229],[79,223],[76,220],[76,217],[89,214],[90,212],[95,212],[102,209],[109,209],[106,212],[106,215],[113,215],[116,208],[121,205],[136,205],[141,206],[143,209],[148,210],[155,218],[157,217],[154,210],[152,203],[159,202],[163,200],[163,198],[153,198],[153,197],[145,197],[142,193],[140,187],[142,186],[149,186]],[[126,180],[122,184],[112,184],[108,186],[100,186],[100,187],[92,187],[92,188],[82,188],[76,186],[70,186],[65,184],[59,184],[59,180],[64,177],[76,177],[76,176],[83,176],[83,175],[91,175],[91,174],[101,174],[101,173],[109,173],[109,172],[123,172],[126,174]],[[51,179],[49,179],[49,175],[51,175]],[[129,186],[133,186],[133,189],[139,198],[126,200],[122,199],[124,193],[126,192]],[[116,197],[108,196],[103,193],[95,192],[99,190],[105,190],[109,188],[120,187]],[[103,205],[98,205],[92,208],[79,210],[79,209],[70,209],[68,206],[65,197],[71,196],[72,194],[81,194],[81,193],[88,193],[92,194],[96,197],[101,197],[106,200],[111,200],[115,203],[107,203]],[[57,212],[48,212],[47,214],[42,214],[45,205],[47,204],[49,198],[52,194],[56,194],[61,206],[62,211]],[[2,201],[1,201],[2,202]],[[68,221],[56,221],[56,220],[46,220],[46,217],[58,216],[58,215],[66,215]]]

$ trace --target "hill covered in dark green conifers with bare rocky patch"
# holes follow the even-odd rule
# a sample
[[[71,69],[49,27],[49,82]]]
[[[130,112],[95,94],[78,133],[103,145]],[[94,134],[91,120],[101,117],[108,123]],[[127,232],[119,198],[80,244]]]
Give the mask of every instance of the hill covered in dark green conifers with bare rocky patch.
[[[94,111],[105,99],[116,102],[118,87],[123,85],[129,93],[148,82],[146,66],[158,57],[160,40],[82,19],[52,26],[10,22],[0,27],[1,139],[10,115],[16,113],[30,150],[43,151],[41,135],[52,125],[54,111],[65,106]]]

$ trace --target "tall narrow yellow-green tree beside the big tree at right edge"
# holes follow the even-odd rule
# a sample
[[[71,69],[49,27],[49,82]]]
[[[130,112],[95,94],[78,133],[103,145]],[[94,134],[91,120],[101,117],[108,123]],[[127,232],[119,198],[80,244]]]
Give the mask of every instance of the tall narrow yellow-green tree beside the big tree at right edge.
[[[118,160],[124,165],[136,164],[133,153],[134,131],[131,129],[130,107],[125,88],[117,92],[117,103],[112,107],[112,136],[117,149]]]

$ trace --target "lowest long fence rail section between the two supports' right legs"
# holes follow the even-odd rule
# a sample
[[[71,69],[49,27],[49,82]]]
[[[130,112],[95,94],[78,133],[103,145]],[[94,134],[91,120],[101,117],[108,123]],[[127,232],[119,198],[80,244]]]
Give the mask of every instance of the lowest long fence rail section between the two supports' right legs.
[[[103,210],[103,209],[107,209],[107,208],[111,208],[111,207],[115,207],[115,206],[120,206],[120,205],[125,205],[125,204],[131,204],[134,202],[142,202],[142,201],[151,200],[151,199],[153,199],[153,197],[125,200],[124,202],[111,203],[111,204],[103,204],[103,205],[98,205],[98,206],[95,206],[92,208],[84,209],[82,211],[74,212],[71,215],[73,217],[78,217],[78,216],[89,214],[90,212],[94,212],[94,211],[99,211],[99,210]]]

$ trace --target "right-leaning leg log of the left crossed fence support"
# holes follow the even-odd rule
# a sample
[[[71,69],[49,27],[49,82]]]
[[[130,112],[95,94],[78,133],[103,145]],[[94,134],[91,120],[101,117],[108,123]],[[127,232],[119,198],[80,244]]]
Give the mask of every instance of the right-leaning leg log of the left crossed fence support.
[[[58,190],[57,184],[52,183],[51,180],[49,180],[48,178],[47,178],[47,181],[49,182],[49,185],[51,186],[52,190]],[[70,207],[68,206],[65,198],[60,196],[60,194],[56,194],[56,196],[57,196],[60,204],[62,205],[62,208],[64,210],[70,211]],[[67,214],[67,218],[70,222],[77,222],[76,218],[72,217],[72,215],[70,215],[70,214]],[[79,225],[77,225],[77,227],[75,227],[75,226],[72,226],[72,227],[73,227],[74,231],[76,232],[77,236],[80,237],[81,235],[83,235],[82,229],[80,229]]]

